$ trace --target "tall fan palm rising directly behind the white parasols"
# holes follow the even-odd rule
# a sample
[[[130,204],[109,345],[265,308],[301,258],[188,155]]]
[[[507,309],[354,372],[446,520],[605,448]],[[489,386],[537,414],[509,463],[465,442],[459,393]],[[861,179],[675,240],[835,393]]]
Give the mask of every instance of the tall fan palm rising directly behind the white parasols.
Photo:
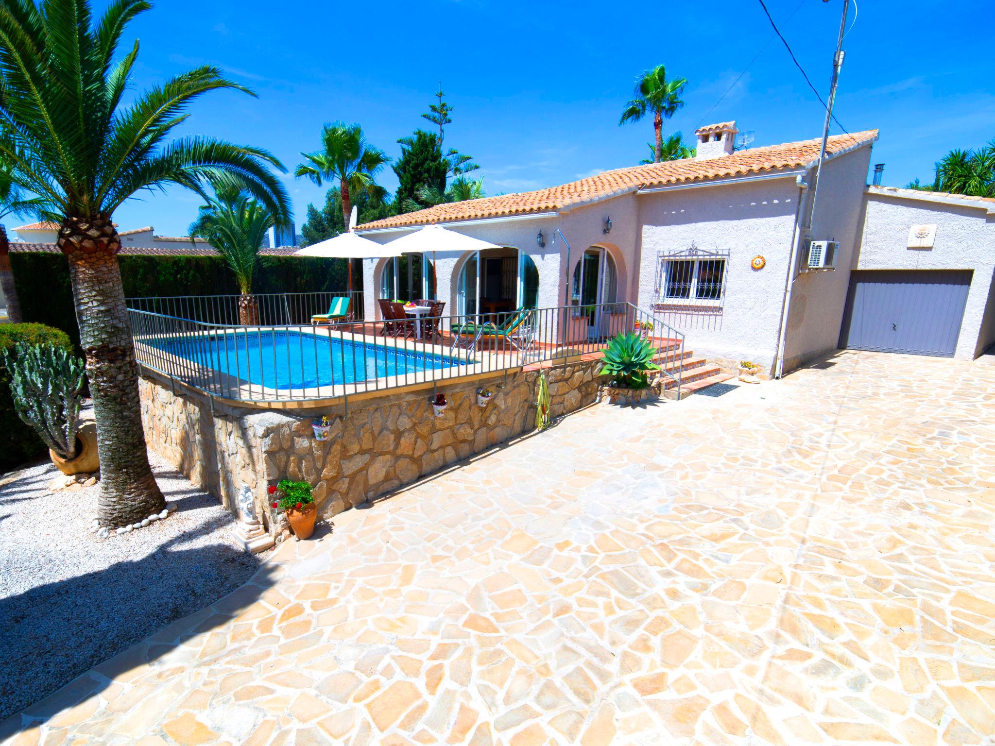
[[[378,203],[387,196],[387,190],[376,183],[377,171],[390,162],[386,153],[366,142],[363,129],[358,124],[335,121],[321,129],[321,149],[313,153],[300,153],[304,162],[299,163],[295,176],[306,176],[317,186],[322,181],[338,181],[342,194],[342,219],[349,226],[352,212],[350,194],[360,191]],[[352,260],[348,260],[349,289],[352,289]]]

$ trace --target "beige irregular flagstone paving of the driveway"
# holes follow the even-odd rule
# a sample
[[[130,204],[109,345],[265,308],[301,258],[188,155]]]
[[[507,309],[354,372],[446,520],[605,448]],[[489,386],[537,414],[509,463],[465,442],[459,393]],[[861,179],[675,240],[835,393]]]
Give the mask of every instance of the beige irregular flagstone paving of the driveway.
[[[336,516],[16,743],[993,743],[995,365],[832,363]]]

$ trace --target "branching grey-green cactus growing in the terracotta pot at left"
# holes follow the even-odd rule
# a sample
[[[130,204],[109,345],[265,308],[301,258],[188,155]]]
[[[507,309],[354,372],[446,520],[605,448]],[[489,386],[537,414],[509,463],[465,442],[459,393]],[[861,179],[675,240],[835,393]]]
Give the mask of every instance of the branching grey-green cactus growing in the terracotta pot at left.
[[[86,375],[83,360],[54,344],[19,342],[13,353],[3,354],[17,414],[56,454],[75,458]]]

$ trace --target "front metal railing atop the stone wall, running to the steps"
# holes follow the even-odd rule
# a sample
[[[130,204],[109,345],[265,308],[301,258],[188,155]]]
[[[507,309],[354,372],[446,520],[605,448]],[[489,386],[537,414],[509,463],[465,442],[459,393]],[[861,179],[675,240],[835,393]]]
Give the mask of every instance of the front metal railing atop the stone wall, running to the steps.
[[[198,313],[211,307],[209,300],[189,302]],[[260,323],[252,325],[129,307],[135,356],[142,366],[212,397],[306,402],[565,362],[603,350],[616,334],[638,330],[656,346],[662,375],[677,383],[680,396],[684,335],[628,302],[473,315],[398,314],[318,326],[265,323],[272,316],[263,307]],[[670,360],[678,363],[673,370],[667,369]]]

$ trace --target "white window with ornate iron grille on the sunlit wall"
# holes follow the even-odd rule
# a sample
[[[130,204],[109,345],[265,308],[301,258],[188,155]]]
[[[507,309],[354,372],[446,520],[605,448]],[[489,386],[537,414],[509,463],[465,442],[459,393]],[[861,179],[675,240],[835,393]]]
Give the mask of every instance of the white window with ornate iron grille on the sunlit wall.
[[[662,306],[698,306],[714,312],[725,298],[728,251],[691,248],[658,252],[657,303]]]

